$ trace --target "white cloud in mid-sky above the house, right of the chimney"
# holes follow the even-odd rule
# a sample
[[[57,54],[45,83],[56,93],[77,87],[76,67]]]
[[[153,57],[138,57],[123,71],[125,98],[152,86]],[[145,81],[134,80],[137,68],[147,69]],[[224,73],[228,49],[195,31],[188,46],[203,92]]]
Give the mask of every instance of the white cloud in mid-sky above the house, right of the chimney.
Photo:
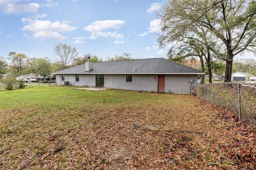
[[[95,21],[92,24],[84,27],[84,30],[91,32],[91,39],[96,38],[124,38],[123,34],[118,34],[116,30],[119,30],[125,21],[122,20],[102,20],[102,21]],[[113,30],[113,32],[107,31],[103,32],[103,30]]]

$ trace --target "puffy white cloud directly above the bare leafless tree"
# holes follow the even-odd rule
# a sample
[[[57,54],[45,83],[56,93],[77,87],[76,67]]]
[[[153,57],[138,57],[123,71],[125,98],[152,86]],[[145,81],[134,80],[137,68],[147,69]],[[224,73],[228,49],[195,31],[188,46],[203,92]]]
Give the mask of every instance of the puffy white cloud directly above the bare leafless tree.
[[[66,39],[64,36],[58,32],[70,32],[76,30],[75,27],[72,27],[68,24],[68,21],[56,21],[51,22],[49,20],[32,20],[28,18],[21,19],[24,24],[27,24],[22,28],[23,31],[33,32],[33,38],[53,38],[56,40]]]

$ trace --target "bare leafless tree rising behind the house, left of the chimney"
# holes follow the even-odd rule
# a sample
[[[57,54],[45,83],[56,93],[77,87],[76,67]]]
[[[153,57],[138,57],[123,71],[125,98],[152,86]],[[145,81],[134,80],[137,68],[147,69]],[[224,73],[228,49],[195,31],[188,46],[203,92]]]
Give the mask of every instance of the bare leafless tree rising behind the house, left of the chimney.
[[[62,69],[68,68],[72,60],[79,54],[76,47],[71,47],[65,43],[55,44],[53,51],[56,62],[62,65]]]

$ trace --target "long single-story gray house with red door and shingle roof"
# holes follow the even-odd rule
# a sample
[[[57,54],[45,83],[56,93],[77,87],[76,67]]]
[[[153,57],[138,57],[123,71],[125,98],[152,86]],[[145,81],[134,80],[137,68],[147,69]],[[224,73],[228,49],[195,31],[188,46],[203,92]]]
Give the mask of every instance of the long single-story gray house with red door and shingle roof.
[[[88,57],[85,64],[52,74],[56,85],[191,94],[205,73],[164,58],[90,63]]]

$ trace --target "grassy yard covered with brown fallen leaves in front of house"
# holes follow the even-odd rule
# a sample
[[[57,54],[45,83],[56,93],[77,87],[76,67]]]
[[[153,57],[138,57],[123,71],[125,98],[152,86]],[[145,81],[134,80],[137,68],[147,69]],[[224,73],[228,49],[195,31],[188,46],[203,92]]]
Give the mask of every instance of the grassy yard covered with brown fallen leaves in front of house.
[[[191,95],[0,91],[0,169],[255,169],[255,139]]]

